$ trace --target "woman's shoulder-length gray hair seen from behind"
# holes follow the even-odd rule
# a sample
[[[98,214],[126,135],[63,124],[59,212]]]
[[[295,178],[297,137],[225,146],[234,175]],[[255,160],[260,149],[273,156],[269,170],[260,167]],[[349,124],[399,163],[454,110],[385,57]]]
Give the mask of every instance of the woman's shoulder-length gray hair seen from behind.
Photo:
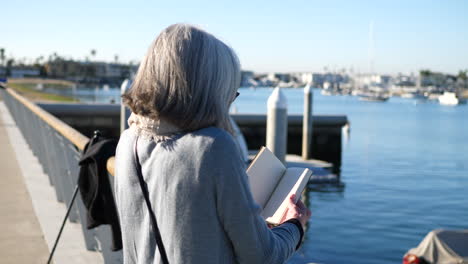
[[[240,85],[235,52],[213,35],[175,24],[161,32],[122,97],[132,112],[184,131],[216,126],[232,133],[229,107]]]

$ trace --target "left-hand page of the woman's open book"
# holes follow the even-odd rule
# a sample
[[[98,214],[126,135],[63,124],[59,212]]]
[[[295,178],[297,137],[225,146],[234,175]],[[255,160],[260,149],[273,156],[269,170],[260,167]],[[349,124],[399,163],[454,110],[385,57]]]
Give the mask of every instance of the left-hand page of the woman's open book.
[[[286,167],[267,148],[262,148],[247,169],[253,198],[265,208]]]

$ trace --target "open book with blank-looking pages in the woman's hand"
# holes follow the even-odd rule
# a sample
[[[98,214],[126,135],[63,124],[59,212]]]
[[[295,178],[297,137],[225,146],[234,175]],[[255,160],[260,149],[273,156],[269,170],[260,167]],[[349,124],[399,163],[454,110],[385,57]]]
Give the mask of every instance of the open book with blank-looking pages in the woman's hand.
[[[250,188],[256,203],[262,207],[262,217],[270,224],[277,225],[286,213],[291,194],[300,198],[312,171],[307,168],[286,168],[283,163],[265,147],[262,147],[247,168]]]

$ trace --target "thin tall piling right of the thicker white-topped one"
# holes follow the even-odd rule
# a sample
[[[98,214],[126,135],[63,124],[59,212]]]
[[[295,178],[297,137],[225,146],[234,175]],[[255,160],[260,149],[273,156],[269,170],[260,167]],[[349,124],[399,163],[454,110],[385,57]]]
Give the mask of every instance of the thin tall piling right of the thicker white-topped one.
[[[312,157],[312,101],[314,99],[310,85],[304,87],[304,115],[302,119],[302,159]]]

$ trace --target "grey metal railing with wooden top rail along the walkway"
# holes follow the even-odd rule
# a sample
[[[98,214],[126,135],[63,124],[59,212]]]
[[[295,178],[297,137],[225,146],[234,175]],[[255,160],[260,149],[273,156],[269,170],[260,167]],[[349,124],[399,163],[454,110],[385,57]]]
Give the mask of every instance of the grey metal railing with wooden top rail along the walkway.
[[[57,200],[68,205],[78,182],[78,161],[81,151],[89,138],[12,89],[0,89],[0,93],[18,128],[48,175]],[[113,185],[113,162],[113,158],[107,162],[111,185]],[[105,263],[121,263],[122,251],[110,250],[112,244],[110,226],[102,225],[88,230],[86,214],[86,208],[78,195],[69,220],[81,223],[86,249],[102,252]],[[57,232],[58,228],[57,225]]]

